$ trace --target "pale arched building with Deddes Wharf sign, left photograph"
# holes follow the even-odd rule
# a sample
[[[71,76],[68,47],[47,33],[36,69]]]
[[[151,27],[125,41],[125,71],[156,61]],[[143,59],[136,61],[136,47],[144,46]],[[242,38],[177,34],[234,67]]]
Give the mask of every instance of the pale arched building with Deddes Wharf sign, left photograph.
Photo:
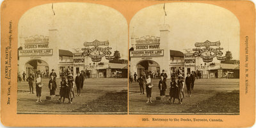
[[[48,36],[29,36],[20,39],[19,48],[19,72],[42,73],[42,76],[49,77],[49,73],[54,69],[57,76],[68,66],[73,66],[72,52],[60,50],[56,47],[54,39]]]

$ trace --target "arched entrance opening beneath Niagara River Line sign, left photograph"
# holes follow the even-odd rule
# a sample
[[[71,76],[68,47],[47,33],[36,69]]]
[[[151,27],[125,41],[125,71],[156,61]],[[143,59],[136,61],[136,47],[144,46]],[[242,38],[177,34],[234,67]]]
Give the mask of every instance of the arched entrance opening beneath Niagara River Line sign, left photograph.
[[[29,60],[25,64],[26,75],[32,73],[41,73],[42,77],[49,77],[49,65],[44,60]]]

